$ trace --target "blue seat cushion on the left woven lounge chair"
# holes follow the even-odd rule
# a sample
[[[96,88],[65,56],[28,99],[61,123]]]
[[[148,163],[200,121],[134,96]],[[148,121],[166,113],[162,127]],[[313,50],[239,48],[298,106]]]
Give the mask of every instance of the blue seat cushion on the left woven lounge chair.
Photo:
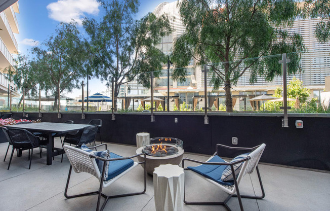
[[[110,153],[111,158],[122,158],[120,155]],[[134,161],[132,159],[125,159],[125,160],[113,160],[109,162],[109,169],[108,169],[108,180],[116,177],[120,173],[126,171],[130,167],[132,167]]]

